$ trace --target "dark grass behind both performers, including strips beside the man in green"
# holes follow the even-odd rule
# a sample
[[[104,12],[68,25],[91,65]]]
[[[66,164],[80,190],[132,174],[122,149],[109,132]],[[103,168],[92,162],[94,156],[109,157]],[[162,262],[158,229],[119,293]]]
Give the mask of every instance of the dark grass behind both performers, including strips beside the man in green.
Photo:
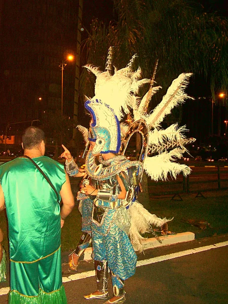
[[[71,179],[71,186],[74,196],[78,191],[80,179]],[[166,187],[164,187],[164,192]],[[204,196],[197,197],[196,194],[181,194],[182,201],[171,200],[172,197],[155,198],[149,194],[147,209],[157,216],[171,218],[168,230],[171,232],[200,232],[199,227],[193,226],[186,222],[188,219],[205,220],[210,223],[211,227],[222,227],[227,225],[228,218],[228,191],[206,192]],[[143,197],[140,202],[143,203]],[[71,251],[75,249],[81,237],[81,215],[78,211],[78,201],[75,202],[75,208],[66,218],[62,228],[62,251]],[[0,213],[0,226],[4,232],[4,246],[9,252],[8,230],[6,212]]]

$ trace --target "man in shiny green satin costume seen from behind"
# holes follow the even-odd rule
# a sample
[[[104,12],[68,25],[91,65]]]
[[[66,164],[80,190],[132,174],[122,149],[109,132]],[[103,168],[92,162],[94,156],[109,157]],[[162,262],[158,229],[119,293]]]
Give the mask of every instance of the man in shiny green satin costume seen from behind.
[[[0,168],[0,211],[6,207],[9,221],[9,303],[65,304],[60,246],[61,227],[74,206],[69,178],[63,165],[44,156],[40,128],[27,128],[22,146],[24,156],[43,170],[57,193],[28,158]]]

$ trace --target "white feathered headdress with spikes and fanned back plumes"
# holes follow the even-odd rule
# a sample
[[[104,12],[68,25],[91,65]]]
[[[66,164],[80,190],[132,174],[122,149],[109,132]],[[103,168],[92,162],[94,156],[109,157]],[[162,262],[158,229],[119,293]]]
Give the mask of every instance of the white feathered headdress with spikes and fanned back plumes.
[[[194,142],[195,138],[185,137],[184,132],[187,131],[185,126],[178,128],[177,124],[173,124],[166,129],[162,129],[161,123],[175,106],[182,104],[187,98],[192,98],[184,92],[192,74],[180,74],[172,82],[158,106],[148,113],[151,97],[161,89],[160,86],[154,87],[158,61],[151,80],[142,79],[140,67],[137,70],[132,68],[136,57],[134,55],[125,68],[115,69],[113,75],[111,74],[113,70],[112,48],[108,51],[104,72],[97,67],[86,65],[86,68],[96,75],[95,96],[86,102],[86,107],[88,108],[91,105],[93,113],[91,109],[90,112],[94,115],[94,108],[99,107],[99,110],[102,111],[102,104],[103,107],[109,108],[109,112],[112,112],[113,116],[113,118],[111,116],[107,118],[106,109],[102,115],[97,110],[92,124],[95,126],[97,121],[99,121],[99,127],[101,127],[103,120],[103,129],[100,130],[100,134],[102,132],[105,133],[106,129],[108,131],[111,129],[118,130],[118,132],[112,131],[110,134],[116,134],[116,136],[111,135],[111,138],[118,141],[115,151],[118,152],[118,148],[120,148],[122,155],[125,154],[131,137],[135,133],[139,133],[142,138],[142,144],[138,160],[143,163],[143,169],[151,179],[156,181],[159,179],[166,180],[168,174],[175,178],[180,172],[186,176],[191,172],[191,169],[175,161],[180,159],[186,151],[185,145]],[[149,90],[144,96],[138,96],[139,88],[148,83],[150,83]],[[126,115],[128,116],[127,120],[125,119],[124,122],[121,122]],[[103,116],[103,118],[98,118],[98,116]],[[95,117],[98,119],[96,120]],[[96,122],[94,122],[95,120]],[[121,122],[118,127],[117,121]],[[103,141],[105,141],[105,136],[107,135],[103,136],[103,141],[101,140],[102,136],[98,136],[100,140],[97,143],[100,145],[104,145]],[[121,147],[119,145],[120,136],[122,138]],[[99,149],[97,148],[96,150],[98,151]],[[109,151],[111,149],[106,150]]]

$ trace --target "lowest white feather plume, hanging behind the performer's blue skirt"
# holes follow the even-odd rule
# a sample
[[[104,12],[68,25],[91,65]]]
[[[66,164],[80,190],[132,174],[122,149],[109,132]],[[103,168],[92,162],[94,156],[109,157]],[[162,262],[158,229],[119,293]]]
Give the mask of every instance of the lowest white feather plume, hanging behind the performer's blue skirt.
[[[154,225],[162,227],[164,223],[172,220],[172,218],[160,218],[155,214],[149,213],[149,211],[147,211],[143,205],[137,201],[135,201],[128,210],[131,215],[129,236],[134,250],[139,252],[143,250],[142,241],[146,239],[142,237],[141,234],[153,231],[152,226]]]

